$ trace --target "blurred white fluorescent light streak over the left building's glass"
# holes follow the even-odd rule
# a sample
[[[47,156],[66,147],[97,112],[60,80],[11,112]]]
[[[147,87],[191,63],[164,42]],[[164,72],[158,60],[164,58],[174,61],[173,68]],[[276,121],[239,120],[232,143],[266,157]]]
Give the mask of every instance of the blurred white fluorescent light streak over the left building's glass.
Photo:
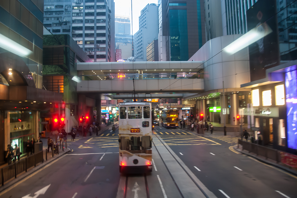
[[[11,40],[10,38],[0,34],[0,47],[20,56],[28,56],[31,50]]]

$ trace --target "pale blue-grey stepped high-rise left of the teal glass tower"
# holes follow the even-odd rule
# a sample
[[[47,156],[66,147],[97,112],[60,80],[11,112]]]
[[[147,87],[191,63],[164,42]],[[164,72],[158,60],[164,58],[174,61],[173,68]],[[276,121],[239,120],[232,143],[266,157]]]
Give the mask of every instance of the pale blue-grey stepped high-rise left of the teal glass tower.
[[[146,61],[146,46],[158,39],[158,32],[158,4],[147,4],[141,10],[139,30],[133,37],[135,59]]]

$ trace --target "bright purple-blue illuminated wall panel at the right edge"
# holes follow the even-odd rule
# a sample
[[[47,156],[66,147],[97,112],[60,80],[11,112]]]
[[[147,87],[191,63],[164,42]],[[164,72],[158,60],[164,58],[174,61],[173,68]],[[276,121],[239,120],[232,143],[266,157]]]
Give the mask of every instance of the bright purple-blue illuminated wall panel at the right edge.
[[[297,70],[286,73],[287,141],[288,147],[297,149]]]

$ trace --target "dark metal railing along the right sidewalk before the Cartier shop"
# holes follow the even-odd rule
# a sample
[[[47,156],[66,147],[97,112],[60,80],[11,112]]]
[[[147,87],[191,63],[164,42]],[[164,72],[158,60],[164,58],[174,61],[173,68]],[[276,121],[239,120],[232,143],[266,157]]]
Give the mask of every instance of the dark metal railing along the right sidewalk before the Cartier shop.
[[[251,142],[243,141],[238,139],[238,145],[242,146],[242,150],[247,150],[249,153],[255,153],[258,156],[265,157],[266,160],[274,160],[276,162],[280,162],[280,154],[279,151],[276,149],[271,149],[268,147],[261,146],[259,144],[254,144]]]

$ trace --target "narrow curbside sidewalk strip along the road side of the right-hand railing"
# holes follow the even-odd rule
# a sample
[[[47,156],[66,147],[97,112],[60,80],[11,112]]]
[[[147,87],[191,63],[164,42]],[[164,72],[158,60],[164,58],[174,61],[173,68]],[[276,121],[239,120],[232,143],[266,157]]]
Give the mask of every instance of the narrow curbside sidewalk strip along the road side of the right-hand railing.
[[[276,161],[274,160],[270,160],[270,159],[266,159],[265,157],[262,157],[262,156],[259,156],[259,155],[256,155],[254,153],[249,153],[248,151],[246,150],[242,150],[242,146],[239,144],[239,145],[235,145],[235,147],[233,147],[233,149],[235,149],[236,151],[240,152],[241,154],[245,154],[245,155],[248,155],[250,157],[253,157],[255,159],[257,159],[258,161],[260,162],[263,162],[265,164],[268,164],[268,165],[272,165],[272,166],[275,166],[277,168],[280,168],[282,170],[285,170],[295,176],[297,176],[297,170],[294,170],[293,168],[279,162],[277,163]]]

